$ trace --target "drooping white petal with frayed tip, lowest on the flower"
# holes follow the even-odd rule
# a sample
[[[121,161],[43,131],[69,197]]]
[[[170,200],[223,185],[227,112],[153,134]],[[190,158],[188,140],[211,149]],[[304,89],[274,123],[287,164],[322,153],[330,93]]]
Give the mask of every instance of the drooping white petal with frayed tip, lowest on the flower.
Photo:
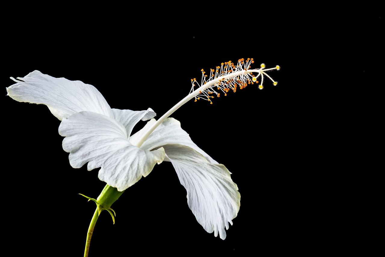
[[[241,195],[231,180],[230,172],[222,164],[211,164],[184,145],[164,145],[165,161],[171,161],[179,181],[186,188],[187,203],[203,228],[222,239],[224,228],[233,225],[239,211]]]

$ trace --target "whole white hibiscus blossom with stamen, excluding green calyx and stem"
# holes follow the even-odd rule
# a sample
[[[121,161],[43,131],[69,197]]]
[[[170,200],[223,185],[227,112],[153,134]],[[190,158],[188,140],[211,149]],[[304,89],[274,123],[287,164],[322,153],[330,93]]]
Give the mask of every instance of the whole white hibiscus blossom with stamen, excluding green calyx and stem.
[[[231,180],[230,172],[200,149],[180,123],[169,118],[177,108],[191,98],[206,99],[224,95],[237,86],[258,83],[256,78],[268,76],[260,69],[249,70],[252,59],[238,61],[238,66],[226,63],[216,73],[211,71],[206,81],[202,70],[202,86],[194,90],[196,79],[191,79],[191,93],[159,120],[149,108],[143,111],[112,109],[100,92],[92,85],[65,78],[54,78],[33,71],[24,78],[11,78],[16,84],[7,88],[8,95],[21,102],[47,105],[52,114],[62,122],[59,134],[64,138],[63,149],[69,152],[72,167],[87,164],[87,169],[100,167],[99,179],[109,186],[124,191],[142,176],[146,177],[155,164],[169,161],[174,166],[181,184],[187,191],[187,203],[197,221],[215,236],[226,238],[225,229],[237,216],[240,194]],[[272,69],[279,69],[279,66]],[[258,73],[258,76],[252,75]],[[268,78],[270,78],[268,76]],[[271,79],[271,78],[270,78]],[[273,79],[271,79],[273,81]],[[276,85],[276,81],[273,81]],[[259,88],[262,88],[262,83]],[[148,120],[138,132],[131,135],[139,120]],[[100,213],[100,211],[99,211]]]

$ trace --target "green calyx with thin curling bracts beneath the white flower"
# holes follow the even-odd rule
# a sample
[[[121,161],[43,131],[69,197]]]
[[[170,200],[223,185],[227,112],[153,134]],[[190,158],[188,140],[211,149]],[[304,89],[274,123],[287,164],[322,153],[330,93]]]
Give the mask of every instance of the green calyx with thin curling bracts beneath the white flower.
[[[96,203],[96,206],[97,206],[97,209],[98,209],[98,216],[100,215],[100,213],[104,210],[108,211],[112,217],[112,221],[114,222],[115,224],[115,218],[114,216],[116,216],[116,213],[114,210],[112,210],[111,208],[111,205],[116,201],[118,200],[119,196],[121,196],[121,194],[123,193],[124,191],[118,191],[117,188],[114,188],[112,186],[109,186],[109,185],[105,185],[102,193],[100,193],[100,195],[98,196],[97,199],[94,199],[94,198],[90,198],[88,196],[85,196],[84,194],[80,194],[82,196],[84,196],[85,198],[88,199],[88,201],[92,200]],[[114,214],[112,214],[112,212],[114,212]]]

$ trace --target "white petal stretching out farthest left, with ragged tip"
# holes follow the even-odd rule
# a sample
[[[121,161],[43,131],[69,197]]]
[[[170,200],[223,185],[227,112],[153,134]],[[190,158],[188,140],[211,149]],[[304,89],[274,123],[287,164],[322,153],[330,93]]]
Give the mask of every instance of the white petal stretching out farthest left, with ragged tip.
[[[59,120],[70,115],[91,111],[113,118],[107,101],[92,85],[82,81],[54,78],[40,71],[29,73],[22,81],[11,77],[16,84],[7,88],[8,95],[16,101],[47,105]]]

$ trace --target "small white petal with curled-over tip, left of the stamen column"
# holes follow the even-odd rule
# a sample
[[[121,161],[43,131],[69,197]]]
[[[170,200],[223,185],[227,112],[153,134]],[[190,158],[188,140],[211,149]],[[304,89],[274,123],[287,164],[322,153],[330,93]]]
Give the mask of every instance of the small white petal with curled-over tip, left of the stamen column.
[[[149,120],[156,116],[156,113],[151,108],[145,111],[112,109],[112,113],[114,113],[114,119],[126,127],[128,138],[131,135],[132,128],[134,128],[139,120]]]

